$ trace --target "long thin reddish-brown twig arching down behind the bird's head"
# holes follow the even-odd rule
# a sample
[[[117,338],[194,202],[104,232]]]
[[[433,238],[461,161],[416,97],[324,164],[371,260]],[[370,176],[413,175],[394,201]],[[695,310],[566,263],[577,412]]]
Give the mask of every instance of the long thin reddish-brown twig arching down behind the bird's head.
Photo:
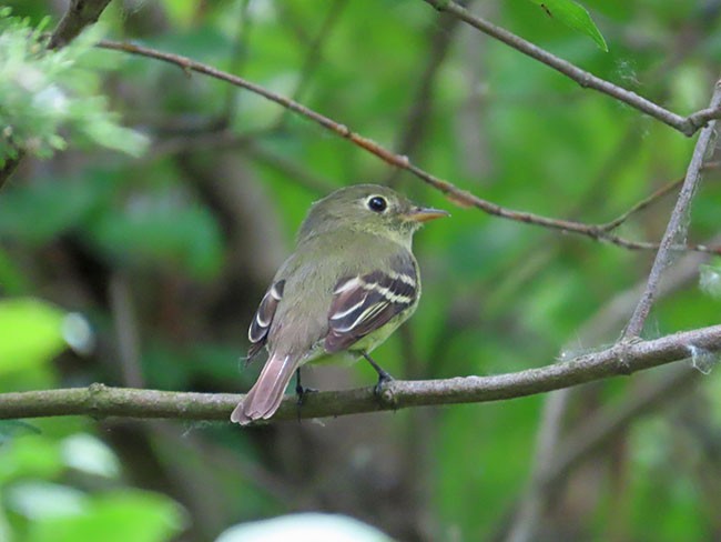
[[[341,124],[328,117],[325,117],[296,101],[293,101],[288,98],[285,98],[281,94],[276,94],[258,84],[255,84],[251,81],[242,79],[240,77],[233,76],[231,73],[217,70],[211,66],[204,64],[202,62],[196,62],[189,59],[187,57],[182,57],[180,54],[167,53],[159,51],[155,49],[136,46],[134,43],[121,43],[115,41],[102,40],[98,43],[98,47],[103,49],[111,49],[115,51],[122,51],[130,54],[138,54],[141,57],[148,57],[156,60],[162,60],[175,66],[179,66],[186,72],[195,71],[197,73],[203,73],[205,76],[220,79],[221,81],[235,84],[237,87],[244,88],[251,92],[254,92],[263,98],[277,103],[284,108],[294,111],[306,119],[309,119],[326,130],[332,131],[336,136],[339,136],[344,139],[349,140],[352,143],[360,147],[362,149],[375,154],[385,162],[396,168],[404,169],[414,175],[416,175],[422,181],[430,184],[436,190],[446,194],[446,197],[460,207],[474,207],[480,211],[491,214],[494,217],[499,217],[507,220],[512,220],[516,222],[524,222],[527,224],[535,224],[542,228],[559,230],[565,233],[575,233],[578,235],[588,237],[597,241],[603,241],[618,247],[622,247],[629,250],[658,250],[658,243],[643,242],[643,241],[631,241],[619,235],[616,235],[610,232],[603,231],[597,224],[586,224],[582,222],[575,222],[572,220],[562,220],[562,219],[552,219],[548,217],[542,217],[539,214],[534,214],[524,211],[516,211],[508,209],[490,201],[484,200],[466,190],[461,190],[458,187],[451,184],[448,181],[439,179],[427,171],[414,165],[408,157],[399,155],[389,150],[380,147],[375,141],[365,138],[354,131],[352,131],[345,124]],[[721,254],[721,248],[705,247],[702,244],[690,244],[682,247],[673,247],[674,250],[689,250],[694,252],[708,252],[714,254]]]

